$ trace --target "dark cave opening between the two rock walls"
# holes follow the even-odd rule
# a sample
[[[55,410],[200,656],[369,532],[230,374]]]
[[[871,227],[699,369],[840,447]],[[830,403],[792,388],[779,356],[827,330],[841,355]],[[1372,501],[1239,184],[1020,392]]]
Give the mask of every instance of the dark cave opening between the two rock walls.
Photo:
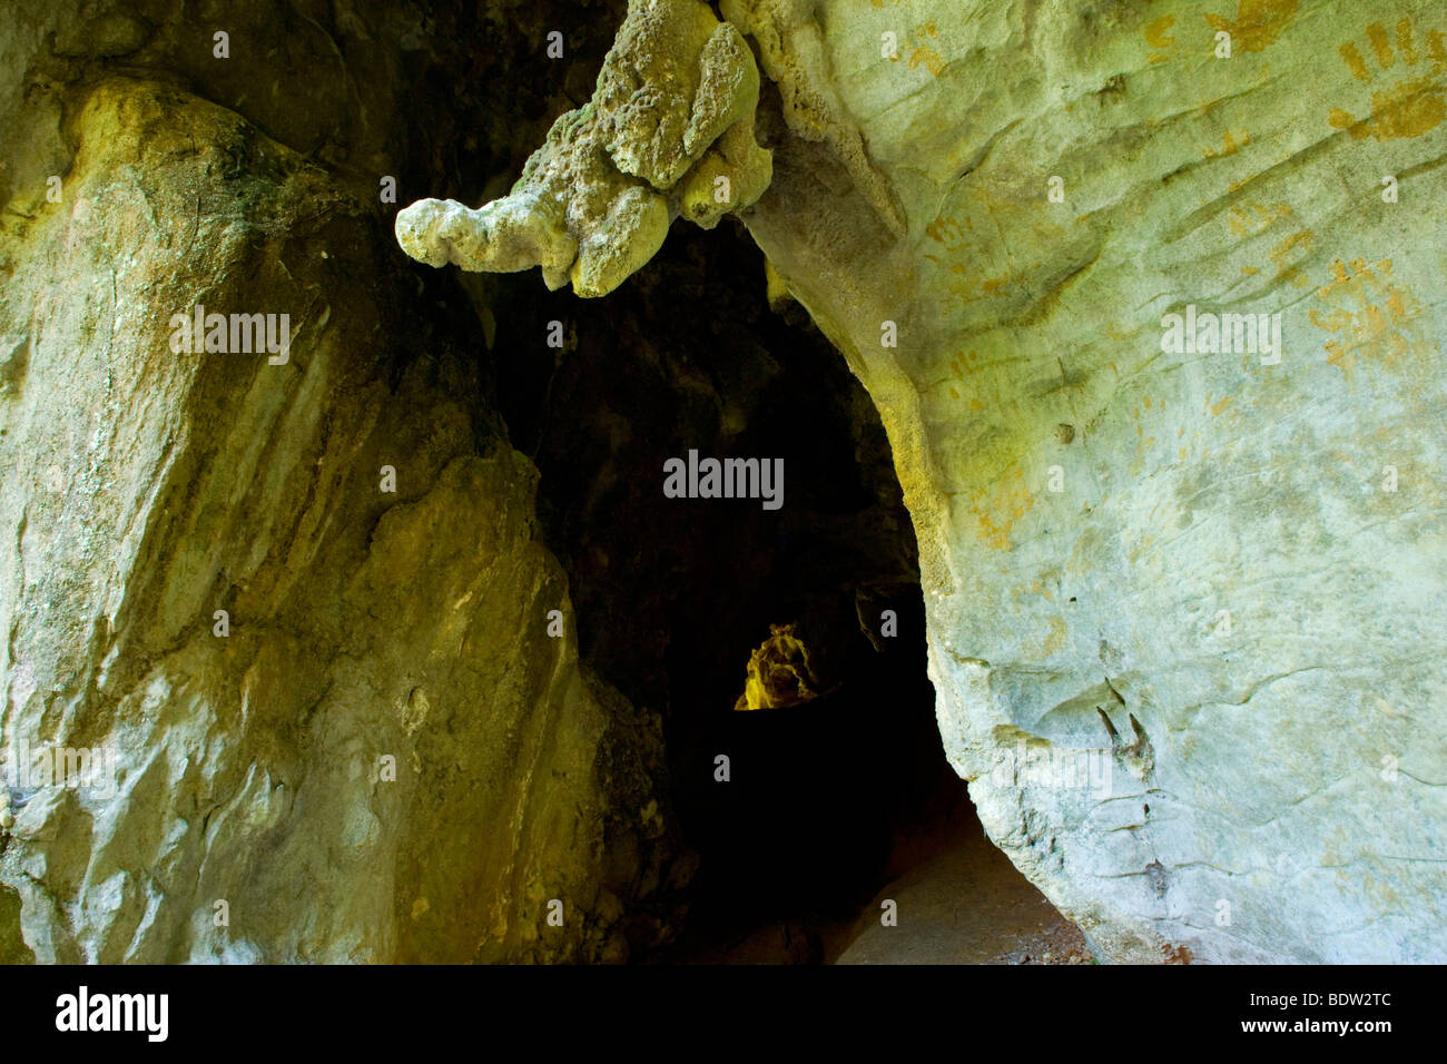
[[[469,282],[506,308],[498,408],[541,470],[582,656],[663,718],[676,934],[634,957],[828,963],[857,941],[854,958],[901,960],[906,932],[871,937],[878,895],[951,854],[939,898],[899,899],[901,928],[943,912],[939,958],[951,905],[1023,899],[996,905],[1000,926],[1053,913],[984,840],[941,748],[915,534],[873,402],[802,308],[770,308],[747,230],[677,226],[605,300],[534,274]],[[781,460],[783,505],[669,498],[666,463],[690,452]]]

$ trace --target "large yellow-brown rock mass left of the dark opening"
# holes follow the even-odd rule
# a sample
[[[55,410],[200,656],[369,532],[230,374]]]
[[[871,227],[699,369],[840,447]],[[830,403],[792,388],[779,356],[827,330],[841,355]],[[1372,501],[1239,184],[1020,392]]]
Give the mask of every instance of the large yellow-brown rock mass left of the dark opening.
[[[657,721],[548,637],[566,579],[475,363],[234,113],[110,80],[72,129],[4,243],[3,734],[117,779],[9,793],[6,955],[627,955]],[[288,362],[175,352],[197,301],[289,314]]]

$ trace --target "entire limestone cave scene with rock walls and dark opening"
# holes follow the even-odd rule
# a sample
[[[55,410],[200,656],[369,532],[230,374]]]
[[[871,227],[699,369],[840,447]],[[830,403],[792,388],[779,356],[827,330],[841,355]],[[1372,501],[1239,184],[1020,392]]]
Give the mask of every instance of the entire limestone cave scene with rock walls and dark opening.
[[[0,960],[1447,955],[1438,12],[906,7],[0,14]]]

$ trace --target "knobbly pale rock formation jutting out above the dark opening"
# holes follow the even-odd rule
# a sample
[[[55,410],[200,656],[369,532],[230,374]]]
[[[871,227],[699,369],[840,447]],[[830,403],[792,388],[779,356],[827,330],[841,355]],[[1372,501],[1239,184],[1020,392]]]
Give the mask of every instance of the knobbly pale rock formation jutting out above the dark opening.
[[[683,216],[709,229],[768,185],[754,142],[758,68],[702,0],[634,0],[598,91],[559,117],[512,191],[478,210],[421,200],[396,239],[433,266],[543,268],[548,288],[606,295]]]

